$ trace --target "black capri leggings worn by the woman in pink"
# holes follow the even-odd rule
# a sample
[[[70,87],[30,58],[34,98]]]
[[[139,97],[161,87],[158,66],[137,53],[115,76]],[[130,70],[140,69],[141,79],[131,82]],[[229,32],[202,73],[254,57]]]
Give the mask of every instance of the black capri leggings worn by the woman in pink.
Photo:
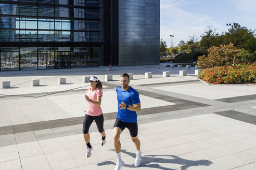
[[[99,116],[89,116],[89,115],[85,114],[84,123],[83,123],[83,134],[86,134],[89,132],[89,127],[93,123],[93,120],[95,120],[95,122],[96,122],[99,133],[104,131],[104,129],[103,129],[103,124],[104,124],[103,114],[101,114]]]

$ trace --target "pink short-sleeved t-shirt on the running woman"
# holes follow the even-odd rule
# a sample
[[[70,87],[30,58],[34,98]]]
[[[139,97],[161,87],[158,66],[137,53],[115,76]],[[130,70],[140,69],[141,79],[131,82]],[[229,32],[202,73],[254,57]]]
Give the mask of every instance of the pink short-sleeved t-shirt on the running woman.
[[[89,88],[86,90],[86,95],[92,101],[97,101],[97,96],[102,96],[102,93],[99,90],[99,88],[96,88],[94,91],[91,91],[91,88]],[[103,112],[100,106],[88,102],[88,108],[86,110],[86,114],[89,116],[100,116],[101,114],[103,114]]]

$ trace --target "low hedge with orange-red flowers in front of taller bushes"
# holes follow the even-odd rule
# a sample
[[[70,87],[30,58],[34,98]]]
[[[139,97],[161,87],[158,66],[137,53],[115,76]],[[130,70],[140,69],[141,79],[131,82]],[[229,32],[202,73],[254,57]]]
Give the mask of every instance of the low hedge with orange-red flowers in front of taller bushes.
[[[208,83],[256,83],[256,61],[200,70],[199,79]]]

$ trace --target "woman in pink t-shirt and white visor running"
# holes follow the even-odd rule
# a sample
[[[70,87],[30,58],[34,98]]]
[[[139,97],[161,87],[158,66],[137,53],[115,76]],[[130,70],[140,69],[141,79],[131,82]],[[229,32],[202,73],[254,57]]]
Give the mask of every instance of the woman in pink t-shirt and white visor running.
[[[83,123],[83,135],[87,145],[87,158],[91,157],[93,147],[90,144],[89,127],[95,120],[99,133],[101,134],[101,146],[106,143],[106,134],[103,129],[104,117],[101,110],[101,97],[103,86],[97,77],[91,77],[89,79],[91,88],[86,90],[85,100],[88,102],[88,108],[85,110],[84,123]]]

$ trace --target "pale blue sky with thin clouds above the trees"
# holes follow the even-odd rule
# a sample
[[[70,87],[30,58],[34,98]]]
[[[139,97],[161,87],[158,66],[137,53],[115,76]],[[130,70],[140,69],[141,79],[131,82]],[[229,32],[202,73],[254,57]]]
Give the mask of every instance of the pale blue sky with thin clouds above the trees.
[[[226,23],[239,23],[247,29],[256,29],[256,0],[160,0],[160,38],[171,46],[180,40],[198,40],[207,26],[217,33],[226,32]]]

